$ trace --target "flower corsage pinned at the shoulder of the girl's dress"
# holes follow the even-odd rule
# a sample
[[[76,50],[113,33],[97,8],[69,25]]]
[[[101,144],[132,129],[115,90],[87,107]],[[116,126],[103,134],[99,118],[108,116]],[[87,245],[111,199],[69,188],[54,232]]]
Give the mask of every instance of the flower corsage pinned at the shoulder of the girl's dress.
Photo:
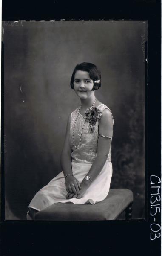
[[[90,133],[92,134],[94,131],[94,126],[97,122],[102,117],[102,112],[98,108],[88,108],[87,111],[85,112],[85,121],[89,122],[89,130]]]

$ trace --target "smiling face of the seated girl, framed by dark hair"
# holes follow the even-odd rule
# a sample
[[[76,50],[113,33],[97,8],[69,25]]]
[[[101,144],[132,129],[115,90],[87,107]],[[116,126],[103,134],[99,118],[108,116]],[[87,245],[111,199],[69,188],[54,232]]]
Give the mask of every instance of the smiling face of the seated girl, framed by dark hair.
[[[80,99],[87,99],[94,95],[92,88],[94,81],[90,78],[87,71],[77,70],[74,76],[74,90]]]

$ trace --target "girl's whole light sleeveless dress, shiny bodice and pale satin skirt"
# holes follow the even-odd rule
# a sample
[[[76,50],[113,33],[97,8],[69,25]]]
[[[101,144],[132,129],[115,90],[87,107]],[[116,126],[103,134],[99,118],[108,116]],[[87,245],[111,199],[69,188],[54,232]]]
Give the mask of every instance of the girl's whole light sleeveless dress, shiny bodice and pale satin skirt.
[[[100,104],[97,107],[100,111],[103,111],[105,108],[108,108],[104,104]],[[108,108],[109,109],[109,108]],[[97,142],[99,137],[99,124],[98,121],[95,124],[94,132],[90,134],[89,132],[89,123],[85,122],[85,127],[82,132],[82,143],[79,148],[75,148],[72,143],[72,129],[74,127],[74,121],[76,119],[79,108],[75,109],[71,113],[71,123],[70,123],[70,137],[69,143],[72,149],[72,173],[81,183],[83,178],[89,172],[91,165],[94,159],[97,156]],[[74,129],[74,141],[75,145],[79,145],[79,135],[81,133],[84,116],[80,113],[77,118],[77,122]],[[114,120],[113,120],[114,123]],[[103,134],[104,135],[104,134]],[[67,191],[65,187],[65,177],[63,172],[60,172],[56,177],[54,177],[46,186],[40,189],[34,198],[31,200],[28,207],[36,209],[38,211],[45,209],[54,203],[66,203],[72,202],[74,204],[86,204],[91,203],[95,204],[99,201],[102,201],[108,195],[110,188],[112,176],[112,163],[111,163],[111,146],[108,154],[108,158],[96,179],[91,183],[89,188],[86,190],[85,195],[82,198],[71,198],[66,199]]]

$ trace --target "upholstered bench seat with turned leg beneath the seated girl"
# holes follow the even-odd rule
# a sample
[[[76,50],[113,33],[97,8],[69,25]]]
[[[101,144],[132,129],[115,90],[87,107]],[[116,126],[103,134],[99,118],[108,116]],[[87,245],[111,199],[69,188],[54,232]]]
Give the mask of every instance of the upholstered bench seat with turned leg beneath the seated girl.
[[[38,212],[36,220],[48,221],[104,221],[116,219],[124,210],[131,218],[133,193],[129,189],[110,189],[105,200],[97,204],[55,203]]]

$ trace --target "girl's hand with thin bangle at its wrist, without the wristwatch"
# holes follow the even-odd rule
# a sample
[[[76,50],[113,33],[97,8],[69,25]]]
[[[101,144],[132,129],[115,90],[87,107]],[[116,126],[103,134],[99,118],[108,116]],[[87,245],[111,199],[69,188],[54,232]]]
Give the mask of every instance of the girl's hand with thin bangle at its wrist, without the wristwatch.
[[[76,179],[76,177],[74,177],[73,175],[68,175],[65,178],[65,183],[66,183],[66,191],[68,193],[74,193],[74,195],[80,194],[81,186],[79,181]]]

